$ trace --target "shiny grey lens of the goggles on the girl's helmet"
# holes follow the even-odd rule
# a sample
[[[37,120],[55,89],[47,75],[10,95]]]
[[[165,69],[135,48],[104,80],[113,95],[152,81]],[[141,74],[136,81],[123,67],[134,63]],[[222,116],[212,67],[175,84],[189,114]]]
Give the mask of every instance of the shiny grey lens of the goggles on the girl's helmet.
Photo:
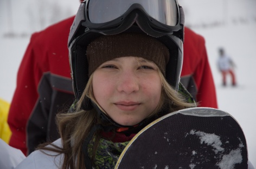
[[[175,0],[93,0],[88,4],[91,23],[106,23],[123,15],[133,4],[140,4],[149,16],[165,25],[177,24]]]

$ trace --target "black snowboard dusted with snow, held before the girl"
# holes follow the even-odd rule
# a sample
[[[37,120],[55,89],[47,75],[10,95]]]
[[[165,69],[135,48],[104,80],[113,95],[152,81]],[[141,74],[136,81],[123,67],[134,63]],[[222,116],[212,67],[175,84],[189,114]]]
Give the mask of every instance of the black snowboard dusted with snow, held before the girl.
[[[116,167],[248,168],[244,132],[231,114],[209,107],[169,113],[144,127]]]

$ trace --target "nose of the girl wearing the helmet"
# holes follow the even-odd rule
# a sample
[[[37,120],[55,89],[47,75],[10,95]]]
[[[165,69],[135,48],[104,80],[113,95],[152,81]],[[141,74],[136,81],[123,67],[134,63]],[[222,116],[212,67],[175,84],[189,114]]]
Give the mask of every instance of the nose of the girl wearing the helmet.
[[[130,94],[139,90],[139,79],[136,77],[134,72],[121,73],[118,78],[117,90]]]

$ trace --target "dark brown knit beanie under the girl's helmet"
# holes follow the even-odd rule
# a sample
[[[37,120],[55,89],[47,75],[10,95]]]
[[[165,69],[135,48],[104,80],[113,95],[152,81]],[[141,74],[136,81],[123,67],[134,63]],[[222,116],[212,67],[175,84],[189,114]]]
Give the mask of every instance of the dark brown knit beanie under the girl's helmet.
[[[120,33],[93,40],[87,47],[89,76],[107,60],[126,56],[154,62],[165,76],[165,66],[169,61],[168,48],[156,38],[140,33]]]

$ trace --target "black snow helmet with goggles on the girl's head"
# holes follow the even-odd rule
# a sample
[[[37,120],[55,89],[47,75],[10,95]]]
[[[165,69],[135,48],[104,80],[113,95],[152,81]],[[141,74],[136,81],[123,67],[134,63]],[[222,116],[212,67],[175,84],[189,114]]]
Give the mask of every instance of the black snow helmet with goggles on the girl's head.
[[[126,6],[126,9],[123,9],[124,13],[117,12],[120,6]],[[162,7],[159,8],[159,6]],[[110,10],[105,11],[105,9]],[[158,15],[153,16],[151,10],[158,11]],[[101,17],[90,17],[101,11],[105,12]],[[162,17],[159,17],[161,16],[159,13]],[[104,16],[108,17],[104,18]],[[95,18],[100,18],[101,21],[94,21]],[[177,90],[183,61],[183,28],[184,12],[177,0],[86,0],[82,2],[68,37],[69,63],[76,100],[80,99],[89,79],[86,57],[88,44],[100,36],[121,32],[145,33],[167,46],[170,59],[166,66],[165,78]],[[92,104],[86,99],[83,109],[90,110]]]

